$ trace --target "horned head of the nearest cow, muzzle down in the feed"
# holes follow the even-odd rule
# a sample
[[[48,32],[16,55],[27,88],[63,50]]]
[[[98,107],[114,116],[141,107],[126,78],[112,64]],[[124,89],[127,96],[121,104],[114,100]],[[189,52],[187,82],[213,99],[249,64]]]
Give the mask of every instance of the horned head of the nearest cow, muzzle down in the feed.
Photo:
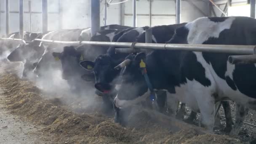
[[[127,101],[137,99],[148,91],[147,83],[141,73],[141,62],[146,59],[146,54],[141,52],[131,54],[126,57],[125,61],[116,68],[122,68],[122,84],[115,97],[115,105],[123,107]]]

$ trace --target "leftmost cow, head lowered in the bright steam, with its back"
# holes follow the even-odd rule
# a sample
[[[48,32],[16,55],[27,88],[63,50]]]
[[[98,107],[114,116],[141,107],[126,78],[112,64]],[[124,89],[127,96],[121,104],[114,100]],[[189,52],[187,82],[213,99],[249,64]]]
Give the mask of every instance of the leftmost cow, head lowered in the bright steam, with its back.
[[[90,29],[90,28],[87,28]],[[85,29],[61,29],[52,32],[47,32],[46,34],[37,35],[38,39],[46,40],[68,40],[66,37],[75,37],[73,40],[77,40],[81,36],[81,31]],[[88,35],[89,37],[89,35]],[[66,38],[66,39],[65,39]],[[51,45],[46,48],[51,49]],[[38,61],[45,52],[45,45],[40,41],[32,40],[27,44],[20,44],[14,51],[10,53],[7,57],[9,61],[22,61],[24,63],[24,70],[22,77],[27,77],[27,75],[32,75],[32,70],[37,65]]]

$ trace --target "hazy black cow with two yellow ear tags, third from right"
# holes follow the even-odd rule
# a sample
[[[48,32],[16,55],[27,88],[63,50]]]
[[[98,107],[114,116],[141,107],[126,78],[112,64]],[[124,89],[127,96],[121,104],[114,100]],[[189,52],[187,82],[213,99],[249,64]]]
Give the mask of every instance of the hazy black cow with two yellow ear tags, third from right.
[[[120,30],[117,29],[106,29],[96,33],[91,37],[90,41],[103,41],[111,42],[115,39],[115,35],[118,34]],[[79,61],[83,60],[93,60],[100,54],[107,52],[107,46],[96,46],[96,45],[80,45],[77,48],[64,48],[61,53],[53,52],[54,58],[61,61],[62,66],[62,78],[67,80],[73,92],[80,95],[83,94],[85,85],[81,85],[78,81],[85,79],[83,75],[89,80],[89,84],[94,86],[94,75],[91,71],[87,71],[80,67]],[[89,76],[88,76],[89,75]],[[84,81],[84,80],[83,80]],[[91,84],[93,82],[93,84]],[[82,82],[81,82],[82,83]],[[109,107],[112,107],[112,103],[108,99],[103,97],[105,112],[109,114]]]

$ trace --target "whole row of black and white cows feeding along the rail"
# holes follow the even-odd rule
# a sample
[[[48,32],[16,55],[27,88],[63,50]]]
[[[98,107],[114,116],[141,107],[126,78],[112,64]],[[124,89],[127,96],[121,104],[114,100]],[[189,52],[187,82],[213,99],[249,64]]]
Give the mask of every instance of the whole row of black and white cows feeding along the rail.
[[[25,33],[24,40],[29,43],[19,44],[7,58],[24,62],[23,77],[45,77],[48,69],[61,69],[72,92],[83,90],[84,85],[77,82],[86,81],[102,96],[106,108],[115,111],[115,122],[122,125],[133,104],[149,99],[156,101],[158,110],[165,113],[166,109],[176,112],[181,101],[179,117],[183,118],[187,105],[192,110],[188,119],[194,120],[199,112],[202,125],[213,131],[214,125],[220,123],[217,108],[222,104],[225,130],[238,135],[248,109],[256,110],[256,65],[229,64],[228,56],[232,53],[157,49],[115,53],[115,47],[46,45],[34,40],[145,43],[146,28],[108,25],[93,36],[90,28]],[[249,17],[202,17],[149,29],[153,43],[256,45],[256,19]],[[10,49],[10,45],[13,46],[5,42],[5,47]],[[236,103],[235,123],[229,100]]]

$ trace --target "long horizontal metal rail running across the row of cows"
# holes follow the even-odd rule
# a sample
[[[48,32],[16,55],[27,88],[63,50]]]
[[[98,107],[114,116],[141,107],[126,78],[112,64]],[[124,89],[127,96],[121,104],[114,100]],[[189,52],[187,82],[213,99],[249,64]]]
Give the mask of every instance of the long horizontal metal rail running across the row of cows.
[[[1,40],[16,40],[22,43],[22,39],[0,38]],[[35,39],[43,43],[61,43],[72,45],[101,45],[101,46],[115,46],[118,53],[131,53],[141,49],[161,49],[161,50],[184,50],[184,51],[202,51],[213,53],[233,53],[242,54],[241,56],[229,56],[230,64],[255,64],[256,63],[256,46],[255,45],[191,45],[191,44],[160,44],[160,43],[120,43],[120,42],[98,42],[98,41],[59,41],[59,40],[42,40]]]

